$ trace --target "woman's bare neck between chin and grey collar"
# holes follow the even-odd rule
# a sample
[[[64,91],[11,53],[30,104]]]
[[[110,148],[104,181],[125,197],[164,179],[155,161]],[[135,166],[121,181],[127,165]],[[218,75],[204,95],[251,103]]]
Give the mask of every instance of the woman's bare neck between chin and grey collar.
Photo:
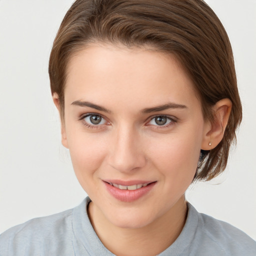
[[[103,245],[118,256],[156,255],[169,247],[180,234],[186,219],[184,196],[173,207],[150,224],[140,228],[114,226],[90,202],[91,224]]]

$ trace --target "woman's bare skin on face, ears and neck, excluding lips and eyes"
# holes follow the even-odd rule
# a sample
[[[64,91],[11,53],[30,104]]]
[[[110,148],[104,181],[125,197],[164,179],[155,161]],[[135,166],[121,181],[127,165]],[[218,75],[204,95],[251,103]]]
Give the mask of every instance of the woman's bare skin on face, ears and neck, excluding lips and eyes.
[[[56,94],[53,100],[59,109]],[[160,253],[184,226],[185,190],[200,149],[209,150],[221,140],[230,100],[216,103],[217,118],[211,124],[203,119],[192,81],[174,56],[107,44],[90,45],[70,59],[64,100],[62,144],[92,200],[88,213],[98,237],[117,255]],[[170,102],[185,107],[142,111]],[[83,118],[87,113],[103,119],[92,124]],[[158,125],[155,116],[170,119]],[[106,191],[105,179],[156,182],[142,197],[123,202]]]

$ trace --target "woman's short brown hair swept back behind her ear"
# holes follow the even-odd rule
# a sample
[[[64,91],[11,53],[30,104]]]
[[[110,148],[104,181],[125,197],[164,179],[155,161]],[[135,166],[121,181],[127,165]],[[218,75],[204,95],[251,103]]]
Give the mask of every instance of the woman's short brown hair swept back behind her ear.
[[[69,58],[91,43],[152,46],[172,53],[190,75],[204,119],[212,106],[229,98],[232,109],[223,139],[201,150],[195,178],[209,180],[226,166],[242,109],[231,45],[220,20],[203,0],[76,0],[64,16],[49,58],[51,93],[64,111],[64,85]]]

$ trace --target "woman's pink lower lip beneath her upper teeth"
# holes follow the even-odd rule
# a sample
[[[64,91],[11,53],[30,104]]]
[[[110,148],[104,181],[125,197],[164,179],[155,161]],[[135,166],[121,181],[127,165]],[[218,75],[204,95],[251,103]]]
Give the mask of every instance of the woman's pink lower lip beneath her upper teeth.
[[[104,181],[105,187],[107,191],[116,199],[123,201],[123,202],[132,202],[146,193],[148,193],[156,182],[152,182],[146,186],[142,186],[140,188],[137,188],[135,190],[128,190],[128,189],[119,189],[118,187],[114,187],[110,185],[109,183]]]

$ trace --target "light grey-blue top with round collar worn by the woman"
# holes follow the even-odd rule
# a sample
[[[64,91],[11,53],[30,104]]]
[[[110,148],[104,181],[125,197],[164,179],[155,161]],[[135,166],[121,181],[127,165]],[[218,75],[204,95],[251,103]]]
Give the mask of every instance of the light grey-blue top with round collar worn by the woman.
[[[81,204],[54,215],[31,219],[0,235],[0,256],[113,256],[96,235]],[[256,241],[230,224],[198,213],[188,203],[178,238],[159,256],[255,256]]]

